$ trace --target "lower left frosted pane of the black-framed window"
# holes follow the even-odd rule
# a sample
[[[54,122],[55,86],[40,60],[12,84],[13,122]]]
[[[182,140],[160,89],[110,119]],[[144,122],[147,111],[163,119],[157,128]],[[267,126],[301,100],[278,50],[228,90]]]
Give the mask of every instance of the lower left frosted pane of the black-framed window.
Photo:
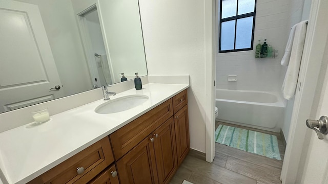
[[[236,20],[222,22],[222,24],[221,24],[221,51],[234,49],[235,24],[236,24]]]

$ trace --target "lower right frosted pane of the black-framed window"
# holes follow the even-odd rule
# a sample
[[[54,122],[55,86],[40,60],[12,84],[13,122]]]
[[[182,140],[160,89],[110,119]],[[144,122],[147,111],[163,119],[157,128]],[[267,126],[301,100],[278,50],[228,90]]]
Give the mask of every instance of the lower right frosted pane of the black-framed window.
[[[251,48],[253,16],[237,19],[236,49]]]

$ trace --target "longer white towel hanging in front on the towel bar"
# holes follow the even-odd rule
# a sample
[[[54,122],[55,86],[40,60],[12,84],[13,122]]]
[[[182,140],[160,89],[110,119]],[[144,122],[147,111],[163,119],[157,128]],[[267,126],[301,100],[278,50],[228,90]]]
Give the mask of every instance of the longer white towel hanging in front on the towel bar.
[[[304,48],[307,22],[308,20],[301,21],[296,24],[295,27],[291,57],[288,63],[285,79],[282,84],[283,98],[287,100],[291,99],[295,94]]]

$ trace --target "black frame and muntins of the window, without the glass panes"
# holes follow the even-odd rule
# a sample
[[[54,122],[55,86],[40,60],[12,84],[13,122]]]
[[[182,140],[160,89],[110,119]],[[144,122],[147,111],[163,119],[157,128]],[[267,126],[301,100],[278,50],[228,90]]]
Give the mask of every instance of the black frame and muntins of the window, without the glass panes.
[[[253,50],[253,44],[254,44],[254,29],[255,29],[255,15],[256,15],[256,0],[255,0],[255,4],[254,4],[254,12],[250,12],[250,13],[244,13],[241,15],[238,15],[238,4],[239,4],[239,0],[237,0],[237,7],[236,7],[236,15],[235,16],[231,16],[231,17],[227,17],[227,18],[223,18],[222,19],[222,1],[220,0],[220,17],[219,17],[219,27],[220,27],[220,32],[219,32],[219,53],[229,53],[229,52],[238,52],[238,51],[252,51]],[[251,38],[251,48],[245,48],[245,49],[235,49],[236,48],[236,33],[237,33],[237,20],[241,19],[241,18],[246,18],[246,17],[251,17],[253,16],[253,30],[252,30],[252,38]],[[226,21],[231,21],[231,20],[235,20],[235,39],[234,39],[234,49],[232,50],[221,50],[221,25],[222,22],[226,22]]]

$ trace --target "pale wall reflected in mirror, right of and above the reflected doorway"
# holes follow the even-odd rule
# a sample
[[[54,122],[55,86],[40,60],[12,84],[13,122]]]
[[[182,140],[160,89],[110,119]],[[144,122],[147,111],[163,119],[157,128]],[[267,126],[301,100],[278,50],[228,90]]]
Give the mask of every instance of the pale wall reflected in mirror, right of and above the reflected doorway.
[[[105,38],[109,65],[114,82],[120,82],[118,73],[132,79],[135,73],[147,75],[147,65],[138,1],[128,0],[71,0],[75,14],[97,4],[99,20]],[[127,67],[129,66],[129,67]]]

